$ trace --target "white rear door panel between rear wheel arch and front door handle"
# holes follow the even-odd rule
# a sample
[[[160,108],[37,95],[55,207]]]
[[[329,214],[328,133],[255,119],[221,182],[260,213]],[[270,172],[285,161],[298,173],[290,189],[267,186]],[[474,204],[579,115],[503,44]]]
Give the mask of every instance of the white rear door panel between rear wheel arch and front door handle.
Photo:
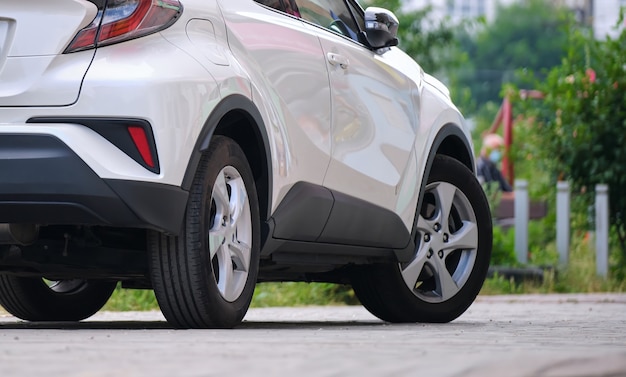
[[[273,203],[296,182],[321,185],[330,160],[330,88],[315,33],[279,0],[221,2],[229,46],[266,112],[275,149]],[[239,16],[242,9],[249,9]]]

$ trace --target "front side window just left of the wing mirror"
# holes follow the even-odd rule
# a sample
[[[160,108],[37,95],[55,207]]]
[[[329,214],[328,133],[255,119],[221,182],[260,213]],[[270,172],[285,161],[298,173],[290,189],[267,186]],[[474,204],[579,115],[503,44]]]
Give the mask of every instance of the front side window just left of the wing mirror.
[[[303,20],[320,25],[337,34],[358,40],[352,12],[343,0],[295,0]]]

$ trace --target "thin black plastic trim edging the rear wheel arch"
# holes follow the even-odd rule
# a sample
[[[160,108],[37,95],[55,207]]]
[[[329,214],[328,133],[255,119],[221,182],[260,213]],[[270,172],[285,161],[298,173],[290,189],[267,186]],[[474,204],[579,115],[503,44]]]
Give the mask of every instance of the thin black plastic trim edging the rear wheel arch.
[[[194,175],[198,168],[198,164],[200,163],[200,157],[202,156],[202,153],[209,148],[209,143],[211,142],[215,131],[220,126],[221,121],[224,119],[224,116],[232,111],[238,112],[241,115],[249,118],[251,123],[255,126],[254,131],[263,143],[263,145],[261,145],[260,147],[262,148],[261,153],[265,153],[264,167],[265,169],[267,169],[267,197],[263,201],[265,201],[267,205],[264,209],[264,212],[262,212],[263,218],[261,220],[265,221],[270,216],[272,198],[272,157],[269,148],[269,137],[265,129],[265,122],[263,121],[261,112],[252,102],[252,100],[243,95],[229,95],[227,97],[224,97],[215,106],[215,108],[205,121],[202,130],[200,131],[200,135],[198,136],[198,140],[196,141],[196,145],[191,154],[191,158],[189,159],[187,169],[185,170],[185,175],[181,187],[183,188],[183,190],[189,191],[193,182]]]

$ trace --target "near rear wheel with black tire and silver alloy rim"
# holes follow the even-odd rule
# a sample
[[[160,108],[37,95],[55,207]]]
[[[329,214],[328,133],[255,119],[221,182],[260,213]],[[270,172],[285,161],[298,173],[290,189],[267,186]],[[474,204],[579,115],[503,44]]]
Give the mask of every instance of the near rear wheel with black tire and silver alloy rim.
[[[260,218],[252,171],[237,143],[211,141],[180,236],[151,232],[148,244],[152,285],[170,324],[232,328],[242,321],[258,275]]]

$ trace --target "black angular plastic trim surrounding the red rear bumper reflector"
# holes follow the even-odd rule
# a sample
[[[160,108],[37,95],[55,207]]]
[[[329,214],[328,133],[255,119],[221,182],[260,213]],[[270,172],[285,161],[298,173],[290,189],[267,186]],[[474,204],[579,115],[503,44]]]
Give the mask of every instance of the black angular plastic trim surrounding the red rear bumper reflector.
[[[152,133],[150,122],[139,118],[108,118],[108,117],[33,117],[26,123],[71,123],[80,124],[97,132],[100,136],[107,139],[111,144],[118,147],[122,152],[126,153],[130,158],[147,170],[159,174],[159,156],[157,154],[156,143]],[[141,157],[139,150],[135,146],[133,139],[128,133],[129,126],[138,126],[143,128],[148,139],[150,153],[154,159],[154,166],[149,166]]]

